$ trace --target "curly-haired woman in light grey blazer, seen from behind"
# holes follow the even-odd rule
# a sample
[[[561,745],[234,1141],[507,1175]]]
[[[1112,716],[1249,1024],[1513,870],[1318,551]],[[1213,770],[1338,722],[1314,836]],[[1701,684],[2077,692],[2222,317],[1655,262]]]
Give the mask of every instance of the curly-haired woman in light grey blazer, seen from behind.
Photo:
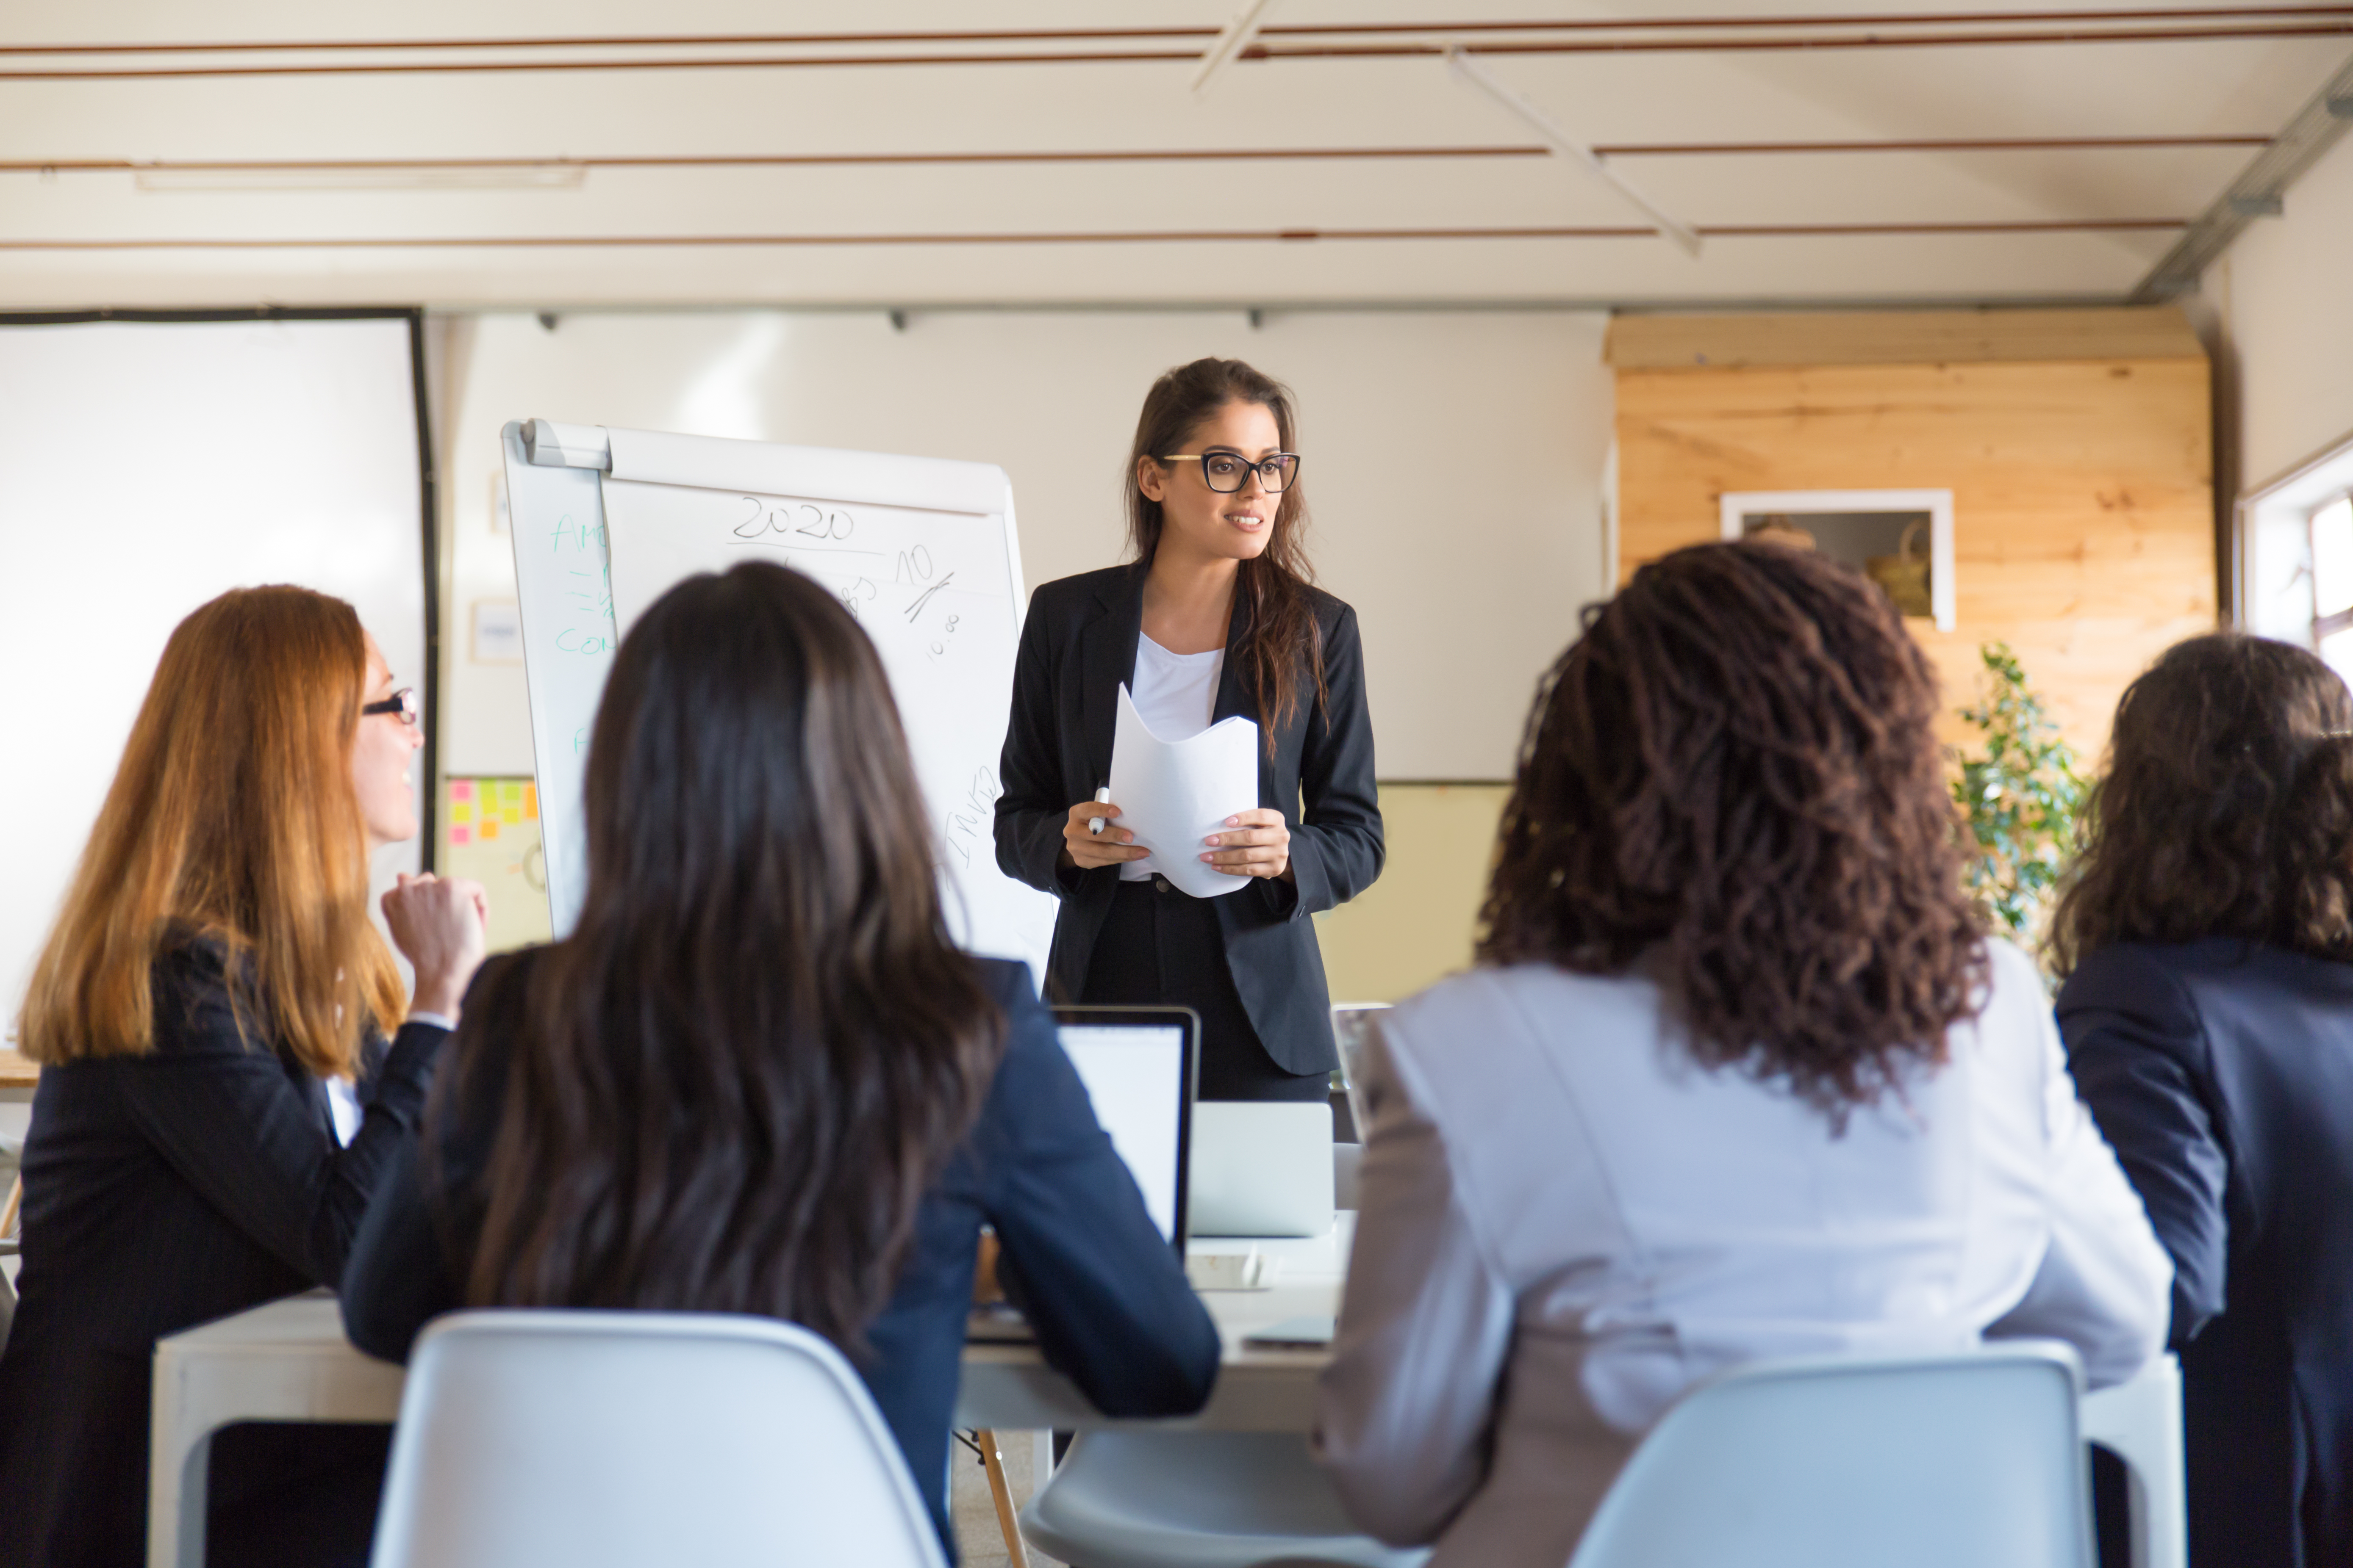
[[[1560,1568],[1708,1373],[1809,1352],[2158,1352],[2165,1253],[1986,940],[1887,597],[1678,550],[1553,665],[1480,966],[1388,1013],[1320,1450],[1431,1568]]]

